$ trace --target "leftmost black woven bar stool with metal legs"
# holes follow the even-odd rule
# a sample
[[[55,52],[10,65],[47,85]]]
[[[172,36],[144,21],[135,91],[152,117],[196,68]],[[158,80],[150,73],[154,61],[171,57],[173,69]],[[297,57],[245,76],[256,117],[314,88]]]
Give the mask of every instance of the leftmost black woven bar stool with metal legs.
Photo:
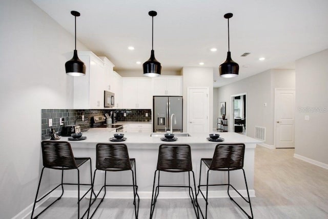
[[[41,171],[40,180],[37,186],[37,191],[35,195],[35,201],[33,204],[32,214],[31,218],[37,218],[40,214],[42,214],[45,210],[47,210],[50,206],[52,206],[55,202],[60,200],[61,196],[64,194],[64,185],[77,185],[77,217],[80,218],[80,201],[86,196],[86,194],[92,189],[92,171],[91,171],[91,158],[90,157],[74,157],[72,148],[70,143],[68,142],[53,142],[53,141],[43,141],[41,143],[42,145],[42,156],[43,156],[43,168]],[[90,161],[90,184],[81,184],[80,183],[80,175],[79,175],[79,167],[83,164],[85,164],[87,161]],[[56,186],[54,189],[49,191],[47,194],[45,194],[43,197],[39,198],[37,200],[37,195],[39,192],[40,184],[42,181],[43,171],[45,168],[49,169],[55,169],[55,170],[61,170],[61,183]],[[64,170],[77,170],[77,184],[75,183],[64,183]],[[47,195],[49,195],[52,191],[57,189],[59,186],[61,186],[61,195],[52,202],[47,208],[45,208],[42,212],[37,214],[35,217],[33,217],[33,213],[35,210],[35,204],[43,198],[45,198]],[[80,186],[90,186],[90,189],[80,198]],[[91,193],[92,195],[92,193]],[[90,198],[91,198],[90,195]],[[88,209],[85,211],[83,216],[87,213]],[[83,217],[82,216],[82,217]]]

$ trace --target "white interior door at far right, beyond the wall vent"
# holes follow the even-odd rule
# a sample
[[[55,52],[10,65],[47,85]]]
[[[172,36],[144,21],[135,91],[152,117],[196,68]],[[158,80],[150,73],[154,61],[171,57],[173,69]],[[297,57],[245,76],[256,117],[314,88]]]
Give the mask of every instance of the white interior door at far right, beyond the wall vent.
[[[295,147],[295,90],[275,89],[276,148]]]

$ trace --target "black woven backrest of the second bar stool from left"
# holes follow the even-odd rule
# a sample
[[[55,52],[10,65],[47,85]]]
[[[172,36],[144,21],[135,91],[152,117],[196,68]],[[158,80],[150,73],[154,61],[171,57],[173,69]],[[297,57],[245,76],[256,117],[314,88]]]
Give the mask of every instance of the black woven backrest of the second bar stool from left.
[[[98,143],[96,153],[98,170],[131,170],[128,148],[125,144]]]

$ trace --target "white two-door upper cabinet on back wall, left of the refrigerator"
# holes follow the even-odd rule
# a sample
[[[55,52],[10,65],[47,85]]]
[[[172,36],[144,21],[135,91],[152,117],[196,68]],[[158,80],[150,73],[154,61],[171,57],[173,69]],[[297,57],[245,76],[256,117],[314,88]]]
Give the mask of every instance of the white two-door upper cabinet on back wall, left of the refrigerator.
[[[116,98],[115,98],[116,99]],[[151,78],[122,77],[123,109],[151,109]]]

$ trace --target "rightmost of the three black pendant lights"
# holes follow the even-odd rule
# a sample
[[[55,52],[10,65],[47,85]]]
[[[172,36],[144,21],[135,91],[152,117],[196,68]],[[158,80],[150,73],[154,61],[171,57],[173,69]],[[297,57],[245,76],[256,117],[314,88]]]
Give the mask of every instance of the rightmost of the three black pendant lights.
[[[228,54],[226,62],[222,63],[219,67],[221,77],[236,77],[239,71],[239,65],[231,59],[230,53],[229,18],[231,18],[232,15],[232,13],[224,14],[224,18],[228,19]]]

